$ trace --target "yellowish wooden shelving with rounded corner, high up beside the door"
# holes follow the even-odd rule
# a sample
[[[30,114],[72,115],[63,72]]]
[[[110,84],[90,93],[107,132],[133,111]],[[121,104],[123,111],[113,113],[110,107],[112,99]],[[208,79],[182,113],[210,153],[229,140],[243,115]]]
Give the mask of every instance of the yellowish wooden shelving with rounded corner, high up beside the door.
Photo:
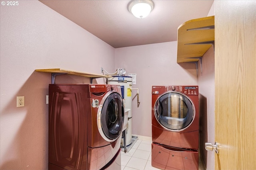
[[[177,63],[197,62],[214,46],[214,16],[198,18],[178,27]]]

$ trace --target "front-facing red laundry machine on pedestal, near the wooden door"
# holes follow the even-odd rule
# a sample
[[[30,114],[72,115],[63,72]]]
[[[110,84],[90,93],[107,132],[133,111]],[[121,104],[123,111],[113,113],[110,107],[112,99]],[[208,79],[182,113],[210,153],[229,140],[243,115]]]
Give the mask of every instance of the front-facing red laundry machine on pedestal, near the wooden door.
[[[152,166],[198,170],[198,86],[152,86]]]

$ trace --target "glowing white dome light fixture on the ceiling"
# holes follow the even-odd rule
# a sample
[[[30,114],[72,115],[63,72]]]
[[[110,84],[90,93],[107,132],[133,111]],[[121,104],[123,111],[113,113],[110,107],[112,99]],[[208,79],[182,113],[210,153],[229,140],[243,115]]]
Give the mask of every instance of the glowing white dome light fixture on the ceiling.
[[[145,18],[153,8],[152,0],[132,0],[128,4],[128,10],[137,18]]]

